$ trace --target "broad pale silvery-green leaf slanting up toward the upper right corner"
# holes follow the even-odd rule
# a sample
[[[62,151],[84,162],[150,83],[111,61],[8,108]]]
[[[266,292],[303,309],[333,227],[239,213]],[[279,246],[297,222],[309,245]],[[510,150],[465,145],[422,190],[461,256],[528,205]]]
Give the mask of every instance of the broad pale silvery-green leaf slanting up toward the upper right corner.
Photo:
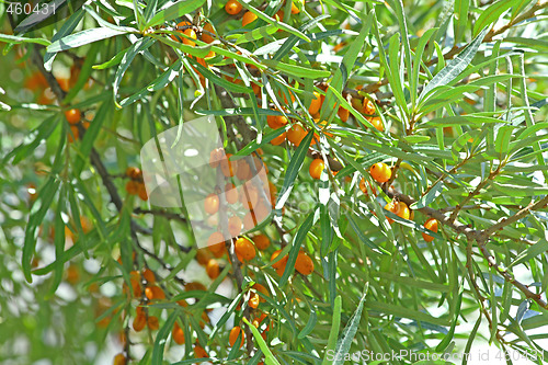
[[[445,66],[439,72],[437,72],[436,76],[432,78],[432,80],[430,80],[426,87],[424,87],[424,89],[422,90],[421,95],[419,96],[419,102],[427,96],[434,88],[449,83],[466,69],[466,67],[473,59],[473,56],[476,56],[480,44],[486,37],[487,31],[487,27],[483,28],[480,34],[457,55],[457,57],[449,60],[447,62],[447,66]]]

